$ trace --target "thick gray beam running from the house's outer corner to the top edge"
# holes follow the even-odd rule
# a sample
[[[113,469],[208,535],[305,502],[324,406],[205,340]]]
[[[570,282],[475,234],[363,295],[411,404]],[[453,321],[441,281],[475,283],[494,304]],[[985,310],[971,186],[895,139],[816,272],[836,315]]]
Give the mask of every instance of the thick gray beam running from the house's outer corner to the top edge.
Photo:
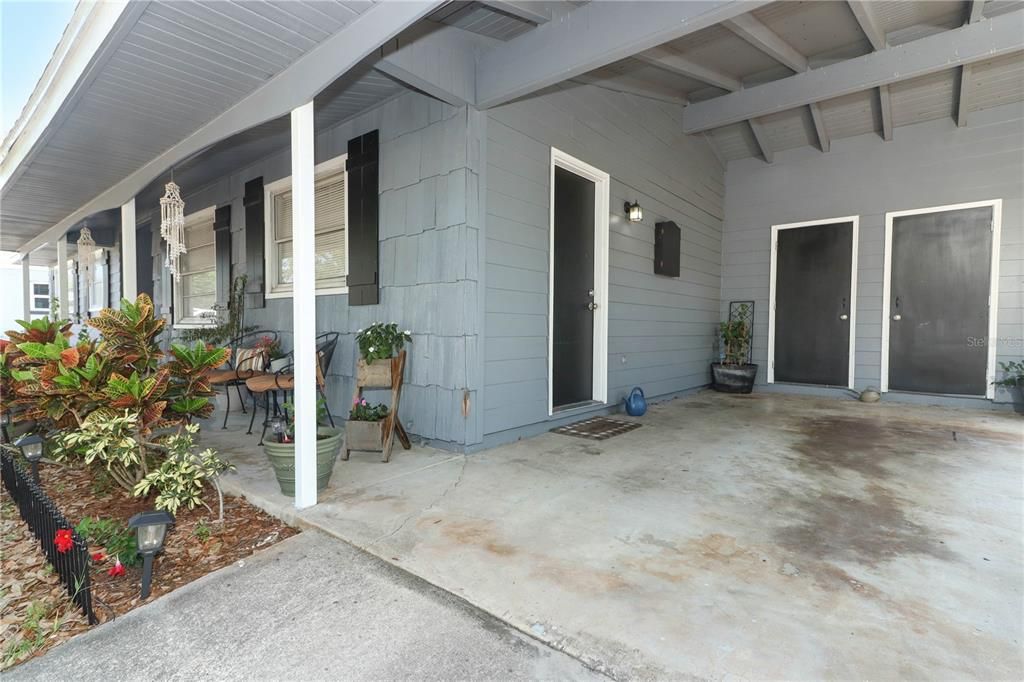
[[[480,55],[477,105],[489,109],[768,4],[768,0],[591,2]]]

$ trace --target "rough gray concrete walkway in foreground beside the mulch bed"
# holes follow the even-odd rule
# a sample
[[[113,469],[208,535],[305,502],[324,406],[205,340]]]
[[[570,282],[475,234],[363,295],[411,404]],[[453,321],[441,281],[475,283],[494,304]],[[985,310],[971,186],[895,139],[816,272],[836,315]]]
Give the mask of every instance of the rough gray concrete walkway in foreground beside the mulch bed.
[[[4,674],[11,682],[596,678],[449,593],[316,531]]]

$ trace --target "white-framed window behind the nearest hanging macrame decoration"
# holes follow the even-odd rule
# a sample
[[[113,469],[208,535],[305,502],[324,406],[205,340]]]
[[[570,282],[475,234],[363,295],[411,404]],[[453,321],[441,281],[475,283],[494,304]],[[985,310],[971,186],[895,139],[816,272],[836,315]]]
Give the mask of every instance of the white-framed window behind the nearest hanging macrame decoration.
[[[181,279],[174,282],[175,327],[217,324],[217,246],[213,235],[215,206],[185,216],[185,253]]]

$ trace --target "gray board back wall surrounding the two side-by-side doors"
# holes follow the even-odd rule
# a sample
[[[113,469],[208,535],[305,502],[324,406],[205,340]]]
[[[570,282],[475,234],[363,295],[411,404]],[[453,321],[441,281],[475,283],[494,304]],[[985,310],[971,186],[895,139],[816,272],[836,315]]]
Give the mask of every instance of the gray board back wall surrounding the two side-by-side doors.
[[[1024,354],[1024,106],[1009,104],[899,128],[890,142],[874,134],[833,142],[828,154],[785,152],[766,165],[731,162],[726,173],[722,310],[730,300],[757,302],[754,361],[766,380],[771,226],[860,216],[855,385],[878,386],[882,287],[888,211],[1001,199],[997,360]],[[996,400],[1009,399],[998,391]]]

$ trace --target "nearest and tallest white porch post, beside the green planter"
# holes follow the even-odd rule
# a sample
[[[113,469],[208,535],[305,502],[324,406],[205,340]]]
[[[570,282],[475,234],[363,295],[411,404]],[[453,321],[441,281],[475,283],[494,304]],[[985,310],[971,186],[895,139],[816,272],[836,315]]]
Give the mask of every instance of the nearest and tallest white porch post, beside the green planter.
[[[292,331],[295,349],[295,507],[316,504],[316,278],[313,102],[292,110]]]

